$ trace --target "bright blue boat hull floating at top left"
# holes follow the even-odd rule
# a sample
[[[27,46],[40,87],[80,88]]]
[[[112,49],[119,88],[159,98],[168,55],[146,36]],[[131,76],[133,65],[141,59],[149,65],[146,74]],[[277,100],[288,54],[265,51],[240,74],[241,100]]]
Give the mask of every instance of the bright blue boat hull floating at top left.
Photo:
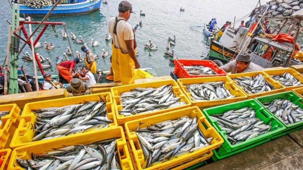
[[[79,15],[87,14],[93,11],[98,11],[102,0],[78,0],[78,3],[60,4],[51,13],[50,16],[65,16],[65,15]],[[17,4],[15,4],[17,5]],[[32,8],[26,5],[20,4],[20,14],[26,16],[45,16],[52,6],[44,8]]]

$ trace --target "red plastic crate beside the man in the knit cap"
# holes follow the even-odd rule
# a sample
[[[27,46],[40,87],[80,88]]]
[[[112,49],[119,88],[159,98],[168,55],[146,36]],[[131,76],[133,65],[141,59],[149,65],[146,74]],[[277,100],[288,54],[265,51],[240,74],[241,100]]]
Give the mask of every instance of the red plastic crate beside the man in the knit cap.
[[[193,78],[193,77],[214,77],[214,76],[226,76],[226,72],[219,68],[217,64],[215,64],[211,60],[186,60],[186,59],[176,59],[175,60],[175,75],[179,78]],[[210,67],[216,73],[215,75],[206,75],[206,74],[199,74],[199,75],[192,75],[188,73],[188,70],[185,69],[183,66],[192,66],[192,65],[204,65],[205,67]]]

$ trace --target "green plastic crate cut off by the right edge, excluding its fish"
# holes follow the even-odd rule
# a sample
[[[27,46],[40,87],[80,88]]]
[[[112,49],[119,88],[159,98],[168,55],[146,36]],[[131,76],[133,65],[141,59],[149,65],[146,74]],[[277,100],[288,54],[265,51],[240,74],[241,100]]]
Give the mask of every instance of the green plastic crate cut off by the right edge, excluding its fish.
[[[271,111],[268,110],[268,106],[264,106],[262,103],[266,102],[272,102],[275,99],[287,99],[290,100],[292,103],[295,103],[298,105],[300,108],[303,108],[303,99],[298,96],[296,93],[292,91],[288,92],[283,92],[283,93],[277,93],[277,94],[272,94],[268,96],[262,96],[262,97],[257,97],[255,100],[257,100],[263,107],[266,108],[266,110],[273,116],[275,116],[284,126],[286,126],[286,129],[281,131],[280,133],[276,134],[275,136],[271,136],[272,139],[286,135],[290,132],[293,132],[295,130],[303,128],[303,121],[297,122],[297,123],[292,123],[286,125],[283,121],[281,121],[278,116],[275,115],[275,113],[271,113]]]

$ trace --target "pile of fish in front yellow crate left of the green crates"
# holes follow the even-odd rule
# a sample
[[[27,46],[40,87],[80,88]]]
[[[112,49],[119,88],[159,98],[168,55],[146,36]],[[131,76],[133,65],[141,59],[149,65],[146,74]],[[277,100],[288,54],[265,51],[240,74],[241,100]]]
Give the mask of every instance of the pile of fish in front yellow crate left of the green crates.
[[[143,169],[205,148],[213,140],[198,128],[197,117],[184,116],[141,129],[140,125],[136,134],[145,158]]]

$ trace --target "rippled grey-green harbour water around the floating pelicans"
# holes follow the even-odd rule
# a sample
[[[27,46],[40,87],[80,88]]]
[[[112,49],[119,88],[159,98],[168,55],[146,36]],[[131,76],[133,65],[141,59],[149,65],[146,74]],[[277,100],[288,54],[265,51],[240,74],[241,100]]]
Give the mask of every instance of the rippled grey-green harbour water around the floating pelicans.
[[[73,32],[77,38],[82,35],[85,43],[93,53],[101,55],[102,49],[108,50],[111,54],[110,42],[105,41],[105,34],[108,33],[108,21],[110,18],[118,15],[118,4],[120,0],[107,0],[108,5],[101,5],[100,11],[90,13],[88,15],[67,16],[67,17],[51,17],[48,21],[63,21],[67,24],[68,33]],[[226,21],[233,21],[247,15],[255,8],[258,0],[131,0],[133,10],[136,14],[132,14],[128,21],[133,27],[143,22],[143,26],[138,28],[136,32],[137,51],[139,52],[138,60],[141,68],[154,68],[159,75],[169,75],[173,70],[173,65],[170,64],[170,58],[165,57],[167,38],[176,35],[176,45],[174,47],[175,57],[201,59],[208,54],[207,38],[203,34],[203,28],[198,28],[199,25],[208,23],[211,18],[217,18],[218,26],[221,27]],[[262,4],[265,0],[261,1]],[[0,26],[2,36],[0,37],[0,62],[5,60],[7,46],[7,30],[8,23],[6,19],[11,20],[11,8],[7,0],[1,0],[0,6]],[[184,12],[180,12],[180,7],[185,8]],[[146,14],[145,17],[139,15],[140,10]],[[35,18],[35,21],[42,18]],[[248,18],[245,20],[247,21]],[[235,27],[238,27],[236,24]],[[33,26],[33,29],[35,26]],[[50,42],[55,45],[54,50],[46,51],[43,48],[38,48],[36,51],[43,57],[50,58],[55,62],[55,57],[62,56],[64,49],[68,47],[68,41],[63,40],[61,36],[62,26],[56,26],[56,31],[59,37],[55,38],[54,32],[49,27],[43,34],[40,42]],[[100,41],[98,47],[90,46],[90,39],[94,38]],[[144,49],[144,44],[151,38],[154,45],[158,46],[157,51],[149,51]],[[21,44],[22,45],[22,44]],[[74,53],[81,51],[81,44],[71,42]],[[23,50],[30,52],[28,46]],[[30,52],[31,54],[31,52]],[[32,63],[26,63],[21,59],[20,55],[19,66],[24,65],[28,74],[33,75]],[[110,55],[109,55],[110,56]],[[109,57],[99,57],[97,59],[97,67],[102,70],[109,70],[111,64]],[[47,70],[52,74],[56,74],[55,67]],[[38,72],[38,75],[41,73]]]

